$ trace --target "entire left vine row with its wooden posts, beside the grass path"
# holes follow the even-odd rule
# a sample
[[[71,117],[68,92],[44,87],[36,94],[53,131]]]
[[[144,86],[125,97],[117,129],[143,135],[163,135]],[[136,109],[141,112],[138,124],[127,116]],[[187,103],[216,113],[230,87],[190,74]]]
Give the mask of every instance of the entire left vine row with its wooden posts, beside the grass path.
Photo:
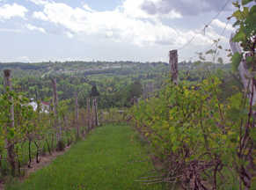
[[[55,80],[52,80],[56,92]],[[121,121],[118,109],[110,109],[104,116],[98,110],[97,97],[87,102],[87,109],[78,108],[68,112],[67,101],[58,103],[57,93],[49,100],[49,108],[43,108],[37,101],[37,108],[29,105],[29,99],[12,91],[11,70],[4,70],[5,93],[1,97],[1,177],[21,174],[26,165],[31,167],[32,158],[37,164],[40,156],[47,152],[64,150],[66,146],[84,138],[93,128],[104,122]],[[100,123],[99,123],[100,122]]]

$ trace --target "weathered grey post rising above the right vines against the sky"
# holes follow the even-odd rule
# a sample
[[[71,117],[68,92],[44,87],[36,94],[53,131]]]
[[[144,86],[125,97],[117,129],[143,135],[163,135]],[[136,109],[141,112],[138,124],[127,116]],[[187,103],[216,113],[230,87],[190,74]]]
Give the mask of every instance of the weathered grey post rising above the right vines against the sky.
[[[169,55],[170,55],[170,72],[172,74],[172,82],[176,85],[179,85],[177,50],[170,51]]]

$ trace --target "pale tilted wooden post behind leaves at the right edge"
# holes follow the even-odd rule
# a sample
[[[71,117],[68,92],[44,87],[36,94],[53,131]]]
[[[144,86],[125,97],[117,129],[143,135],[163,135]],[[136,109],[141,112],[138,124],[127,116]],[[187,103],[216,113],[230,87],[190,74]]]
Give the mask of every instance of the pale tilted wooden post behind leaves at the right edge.
[[[236,54],[236,53],[241,54],[242,50],[241,50],[238,42],[231,41],[235,35],[236,35],[235,33],[231,33],[231,35],[230,35],[230,48],[231,48],[233,54]],[[249,103],[251,103],[251,99],[252,99],[252,105],[254,105],[255,100],[256,100],[255,86],[252,86],[252,81],[250,82],[250,80],[252,80],[252,79],[247,79],[247,78],[251,77],[251,74],[249,72],[249,69],[248,69],[247,64],[244,59],[240,62],[239,66],[238,66],[238,70],[239,70],[240,76],[242,78],[245,91],[247,91],[247,90],[250,91],[248,93]],[[249,87],[249,89],[248,89],[248,87]],[[253,97],[252,97],[252,90],[253,90]]]

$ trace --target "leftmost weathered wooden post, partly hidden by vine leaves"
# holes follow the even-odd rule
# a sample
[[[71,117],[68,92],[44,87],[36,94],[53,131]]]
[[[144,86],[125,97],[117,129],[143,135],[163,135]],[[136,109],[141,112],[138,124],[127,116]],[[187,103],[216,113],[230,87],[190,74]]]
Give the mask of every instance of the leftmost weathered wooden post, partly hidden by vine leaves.
[[[11,85],[11,69],[5,69],[4,70],[4,92],[6,93],[6,87],[9,86],[10,87],[10,91],[12,91],[12,85]],[[10,113],[11,113],[11,122],[8,123],[10,128],[14,128],[14,113],[13,113],[13,98],[9,97],[9,100],[11,100],[12,105],[11,105],[11,109],[10,109]],[[11,164],[11,174],[14,175],[15,174],[15,170],[16,170],[16,162],[15,162],[15,152],[14,152],[14,144],[11,143],[11,141],[7,141],[8,144],[8,158],[10,160],[10,164]]]

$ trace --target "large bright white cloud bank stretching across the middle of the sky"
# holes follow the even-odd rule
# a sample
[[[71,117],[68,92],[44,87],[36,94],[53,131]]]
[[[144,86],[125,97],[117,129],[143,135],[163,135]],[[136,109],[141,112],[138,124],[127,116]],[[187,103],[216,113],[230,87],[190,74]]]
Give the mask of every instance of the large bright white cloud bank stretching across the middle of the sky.
[[[124,5],[123,7],[128,7]],[[112,39],[130,43],[135,46],[145,45],[178,45],[186,42],[188,33],[175,31],[161,22],[152,24],[131,17],[128,11],[86,11],[73,9],[67,4],[45,4],[43,11],[33,12],[34,18],[49,21],[56,26],[64,27],[63,33],[69,38],[76,34],[85,34],[102,39]],[[181,35],[181,37],[179,37]],[[183,35],[183,36],[182,36]]]

